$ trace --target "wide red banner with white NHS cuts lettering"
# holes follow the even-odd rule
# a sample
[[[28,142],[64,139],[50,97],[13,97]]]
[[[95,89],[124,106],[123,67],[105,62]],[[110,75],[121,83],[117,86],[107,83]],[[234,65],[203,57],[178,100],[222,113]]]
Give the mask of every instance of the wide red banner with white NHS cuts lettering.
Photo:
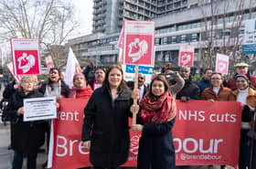
[[[53,169],[91,166],[82,147],[81,127],[87,100],[62,99],[54,120]],[[240,103],[235,101],[177,101],[174,127],[176,165],[228,164],[239,160]],[[139,132],[131,131],[130,157],[124,166],[136,166]]]

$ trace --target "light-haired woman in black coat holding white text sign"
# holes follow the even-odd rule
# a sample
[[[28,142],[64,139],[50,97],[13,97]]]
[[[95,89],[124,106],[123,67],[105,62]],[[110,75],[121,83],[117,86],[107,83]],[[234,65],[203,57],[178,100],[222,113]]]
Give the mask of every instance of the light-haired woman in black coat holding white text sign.
[[[15,151],[13,169],[22,168],[25,154],[27,154],[27,169],[36,169],[37,151],[45,141],[43,121],[23,121],[25,112],[23,100],[43,97],[41,93],[34,89],[34,82],[34,77],[24,76],[9,103],[9,115],[16,119],[13,125],[12,147]]]

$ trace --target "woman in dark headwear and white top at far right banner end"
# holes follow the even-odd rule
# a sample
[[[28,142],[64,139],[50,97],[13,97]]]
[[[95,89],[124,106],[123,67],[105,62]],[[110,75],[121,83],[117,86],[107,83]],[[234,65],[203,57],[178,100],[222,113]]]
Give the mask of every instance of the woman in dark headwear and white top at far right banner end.
[[[242,122],[240,130],[240,160],[239,168],[246,169],[250,168],[251,159],[251,131],[252,124],[254,121],[248,118],[244,118],[243,114],[248,114],[250,111],[255,111],[256,105],[256,91],[250,87],[250,79],[246,75],[236,76],[236,87],[237,90],[232,91],[235,100],[239,101],[244,107],[242,111]]]

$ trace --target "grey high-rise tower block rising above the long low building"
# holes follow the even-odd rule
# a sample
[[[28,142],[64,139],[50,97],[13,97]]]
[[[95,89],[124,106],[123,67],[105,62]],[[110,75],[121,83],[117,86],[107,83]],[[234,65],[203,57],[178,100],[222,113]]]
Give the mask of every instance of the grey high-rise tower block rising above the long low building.
[[[189,7],[197,6],[197,0],[94,0],[93,33],[115,33],[123,26],[123,20],[149,20]]]

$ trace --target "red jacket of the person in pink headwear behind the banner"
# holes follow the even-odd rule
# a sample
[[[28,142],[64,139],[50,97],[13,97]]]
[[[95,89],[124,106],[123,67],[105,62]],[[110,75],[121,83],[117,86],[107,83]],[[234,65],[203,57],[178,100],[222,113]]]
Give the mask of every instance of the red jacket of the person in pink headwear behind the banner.
[[[89,100],[92,92],[93,90],[91,90],[90,85],[87,85],[83,89],[73,87],[72,90],[69,91],[69,98]]]

